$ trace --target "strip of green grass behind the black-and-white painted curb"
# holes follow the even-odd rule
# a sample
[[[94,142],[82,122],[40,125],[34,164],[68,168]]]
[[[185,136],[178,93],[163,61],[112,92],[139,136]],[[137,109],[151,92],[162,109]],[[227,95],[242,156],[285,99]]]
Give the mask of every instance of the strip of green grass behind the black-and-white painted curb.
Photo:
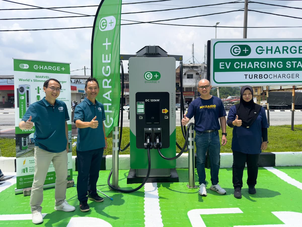
[[[226,127],[226,132],[228,133],[227,143],[225,146],[221,146],[221,153],[232,153],[231,145],[232,145],[232,128]],[[126,145],[130,142],[130,128],[123,127],[123,135],[122,135],[122,143],[121,149],[126,147]],[[221,130],[219,132],[220,140],[221,140]],[[108,148],[104,151],[104,155],[112,154],[112,133],[107,137]],[[252,138],[251,138],[252,139]],[[72,143],[76,141],[76,139],[72,139]],[[270,126],[268,129],[268,149],[264,152],[280,152],[280,151],[302,151],[302,125],[295,125],[294,131],[291,131],[290,125],[281,125],[281,126]],[[176,142],[183,146],[185,143],[185,139],[182,136],[181,127],[176,127]],[[180,150],[176,147],[176,152],[179,153]],[[2,156],[4,157],[14,157],[16,156],[15,149],[15,140],[14,139],[0,139],[0,149],[2,151]],[[196,147],[195,147],[196,150]],[[130,146],[120,154],[130,154]],[[72,155],[76,155],[76,147],[72,147]]]

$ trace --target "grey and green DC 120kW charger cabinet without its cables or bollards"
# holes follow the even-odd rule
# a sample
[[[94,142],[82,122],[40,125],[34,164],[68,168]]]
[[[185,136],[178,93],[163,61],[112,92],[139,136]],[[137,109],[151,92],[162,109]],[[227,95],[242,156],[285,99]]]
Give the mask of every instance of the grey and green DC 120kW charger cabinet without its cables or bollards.
[[[178,182],[176,160],[175,58],[159,46],[146,46],[129,58],[130,172],[127,183],[147,175],[149,182]],[[181,60],[180,60],[181,61]],[[166,179],[165,179],[166,178]]]

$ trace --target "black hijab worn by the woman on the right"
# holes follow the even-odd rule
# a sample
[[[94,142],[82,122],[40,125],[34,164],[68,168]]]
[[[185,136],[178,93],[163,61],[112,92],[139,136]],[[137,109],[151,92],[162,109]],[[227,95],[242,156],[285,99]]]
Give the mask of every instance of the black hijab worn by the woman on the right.
[[[243,86],[240,90],[240,103],[236,104],[235,106],[238,119],[242,120],[242,126],[248,128],[258,117],[262,106],[254,103],[253,97],[251,100],[249,100],[249,102],[244,101],[242,96],[245,90],[250,90],[252,92],[252,96],[254,96],[252,87]]]

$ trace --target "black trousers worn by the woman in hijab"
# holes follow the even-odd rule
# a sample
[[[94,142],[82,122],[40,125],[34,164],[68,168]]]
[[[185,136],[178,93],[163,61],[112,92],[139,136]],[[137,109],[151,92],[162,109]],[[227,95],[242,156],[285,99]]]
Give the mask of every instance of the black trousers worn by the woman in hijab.
[[[255,186],[257,183],[260,154],[245,154],[233,150],[233,186],[242,188],[242,176],[245,164],[247,166],[247,185]]]

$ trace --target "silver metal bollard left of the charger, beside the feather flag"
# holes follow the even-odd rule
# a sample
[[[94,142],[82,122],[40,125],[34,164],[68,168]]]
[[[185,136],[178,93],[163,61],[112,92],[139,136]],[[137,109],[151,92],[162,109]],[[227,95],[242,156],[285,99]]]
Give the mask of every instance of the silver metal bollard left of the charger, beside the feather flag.
[[[112,131],[112,186],[114,186],[115,188],[118,188],[118,137],[118,126],[114,126]]]

